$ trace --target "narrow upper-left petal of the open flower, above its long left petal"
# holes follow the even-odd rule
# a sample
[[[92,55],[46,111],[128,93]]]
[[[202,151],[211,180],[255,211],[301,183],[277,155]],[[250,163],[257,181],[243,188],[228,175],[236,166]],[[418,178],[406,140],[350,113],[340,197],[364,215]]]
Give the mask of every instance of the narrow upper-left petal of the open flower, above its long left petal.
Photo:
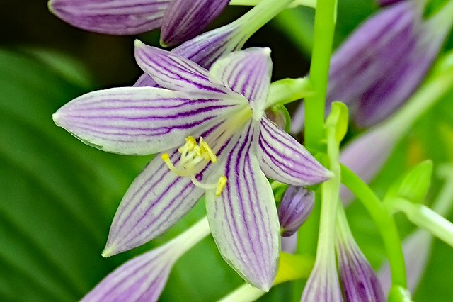
[[[144,72],[166,89],[176,91],[207,91],[227,94],[228,89],[210,82],[207,70],[196,63],[166,50],[135,41],[135,60]]]

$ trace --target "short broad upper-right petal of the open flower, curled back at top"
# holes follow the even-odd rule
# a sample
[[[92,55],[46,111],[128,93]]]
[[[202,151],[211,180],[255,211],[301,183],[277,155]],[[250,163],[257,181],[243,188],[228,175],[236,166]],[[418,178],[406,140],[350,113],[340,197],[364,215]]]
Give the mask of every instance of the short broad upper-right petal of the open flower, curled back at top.
[[[252,47],[217,60],[210,69],[210,80],[242,94],[256,111],[263,111],[271,72],[270,49]]]

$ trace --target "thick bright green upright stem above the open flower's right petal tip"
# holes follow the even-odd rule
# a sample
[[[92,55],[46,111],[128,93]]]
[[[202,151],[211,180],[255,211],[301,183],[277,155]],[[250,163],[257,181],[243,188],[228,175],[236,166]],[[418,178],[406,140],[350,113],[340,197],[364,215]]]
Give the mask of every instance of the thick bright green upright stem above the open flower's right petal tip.
[[[328,69],[336,23],[336,2],[323,0],[316,4],[313,55],[310,65],[310,80],[316,94],[305,99],[305,145],[312,152],[321,150],[323,138]]]

